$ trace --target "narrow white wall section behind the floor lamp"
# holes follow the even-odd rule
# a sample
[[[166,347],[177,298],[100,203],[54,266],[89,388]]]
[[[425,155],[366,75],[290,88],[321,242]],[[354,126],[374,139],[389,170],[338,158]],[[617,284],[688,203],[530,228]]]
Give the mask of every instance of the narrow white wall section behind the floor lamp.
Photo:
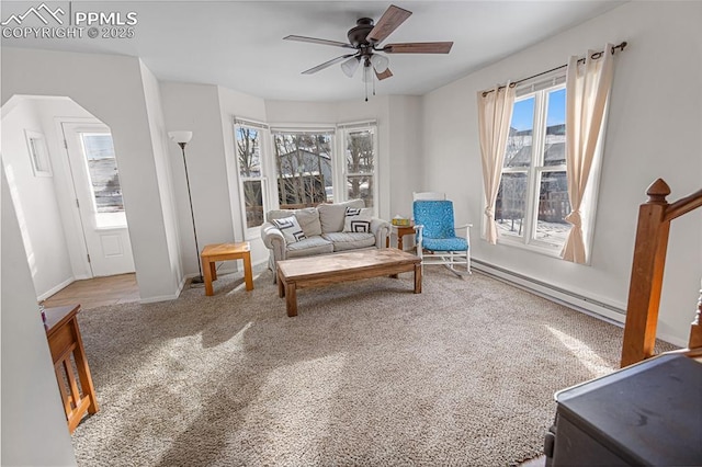
[[[200,250],[208,243],[234,241],[229,186],[225,163],[219,94],[216,86],[161,83],[163,116],[169,132],[193,132],[185,146],[188,176]],[[188,201],[185,168],[180,146],[169,140],[169,159],[178,208],[181,255],[185,274],[197,274],[193,223]]]

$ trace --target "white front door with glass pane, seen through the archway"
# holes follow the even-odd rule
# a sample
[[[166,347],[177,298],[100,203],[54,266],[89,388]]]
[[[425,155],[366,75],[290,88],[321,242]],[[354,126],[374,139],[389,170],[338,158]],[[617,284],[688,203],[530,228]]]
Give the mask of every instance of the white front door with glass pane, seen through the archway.
[[[134,272],[134,257],[110,128],[61,123],[93,276]]]

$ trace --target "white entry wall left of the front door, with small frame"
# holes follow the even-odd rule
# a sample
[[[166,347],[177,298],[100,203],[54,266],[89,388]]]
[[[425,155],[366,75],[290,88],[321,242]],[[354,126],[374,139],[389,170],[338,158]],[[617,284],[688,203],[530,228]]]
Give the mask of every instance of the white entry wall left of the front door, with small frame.
[[[57,155],[48,138],[47,129],[52,128],[44,127],[37,104],[22,99],[3,115],[0,152],[27,252],[35,299],[44,299],[72,282],[73,273],[55,195],[54,182],[60,178],[60,166],[54,160]],[[44,135],[54,176],[34,175],[25,130]]]

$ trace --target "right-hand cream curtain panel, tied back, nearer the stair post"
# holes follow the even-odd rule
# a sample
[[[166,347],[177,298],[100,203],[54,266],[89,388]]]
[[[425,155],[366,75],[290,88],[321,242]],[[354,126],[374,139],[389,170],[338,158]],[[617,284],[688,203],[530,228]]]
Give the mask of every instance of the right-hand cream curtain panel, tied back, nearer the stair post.
[[[578,57],[570,57],[566,73],[566,168],[571,212],[565,219],[573,227],[561,257],[579,264],[587,262],[580,205],[612,88],[614,59],[611,50],[612,44],[607,44],[597,59],[592,58],[597,52],[588,50],[581,65],[578,65]]]

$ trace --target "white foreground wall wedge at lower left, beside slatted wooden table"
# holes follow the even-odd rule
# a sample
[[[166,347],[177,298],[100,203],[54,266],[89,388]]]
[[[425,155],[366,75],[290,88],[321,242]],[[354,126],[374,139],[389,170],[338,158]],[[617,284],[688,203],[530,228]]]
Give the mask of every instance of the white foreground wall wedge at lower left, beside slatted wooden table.
[[[2,442],[0,464],[70,466],[76,457],[4,169],[2,184]]]

